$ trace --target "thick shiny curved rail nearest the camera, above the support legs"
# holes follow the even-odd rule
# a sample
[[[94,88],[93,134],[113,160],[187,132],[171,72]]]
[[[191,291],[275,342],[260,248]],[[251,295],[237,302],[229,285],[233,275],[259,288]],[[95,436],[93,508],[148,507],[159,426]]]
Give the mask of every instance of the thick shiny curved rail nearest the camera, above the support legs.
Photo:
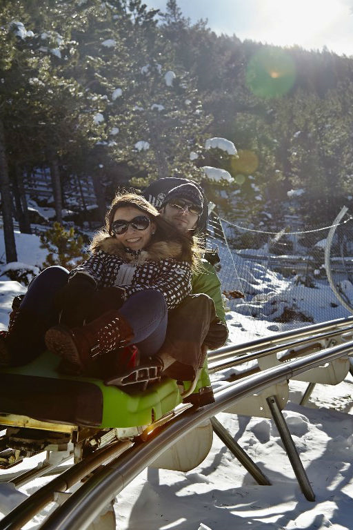
[[[228,409],[234,402],[272,384],[288,380],[309,369],[330,362],[353,351],[353,341],[332,346],[303,359],[293,360],[274,368],[245,377],[216,393],[216,402],[203,409],[190,409],[152,432],[143,444],[135,444],[121,458],[112,460],[95,473],[80,489],[41,525],[41,530],[84,530],[99,515],[101,508],[115,498],[145,467],[152,464],[185,433]],[[9,530],[13,527],[7,527]]]

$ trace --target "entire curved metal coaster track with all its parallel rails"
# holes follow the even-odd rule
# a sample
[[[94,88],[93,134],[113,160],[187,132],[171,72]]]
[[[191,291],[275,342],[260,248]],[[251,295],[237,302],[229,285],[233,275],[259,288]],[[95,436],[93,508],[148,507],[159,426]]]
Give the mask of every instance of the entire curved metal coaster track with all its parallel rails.
[[[215,372],[229,366],[243,364],[256,359],[259,355],[269,355],[274,351],[295,348],[295,346],[310,344],[310,342],[319,339],[329,339],[351,333],[353,334],[353,317],[286,331],[238,346],[225,346],[225,348],[210,353],[210,371]],[[268,347],[261,350],[261,346]],[[249,353],[244,353],[245,351]],[[22,502],[19,507],[0,521],[0,530],[21,529],[23,524],[26,524],[49,502],[57,499],[57,492],[67,491],[79,480],[102,467],[102,471],[94,473],[92,478],[87,480],[77,493],[72,493],[63,506],[54,511],[41,527],[43,530],[61,530],[69,527],[72,530],[75,528],[83,530],[94,520],[108,500],[113,499],[132,478],[137,476],[145,467],[148,467],[153,460],[179,438],[182,438],[187,431],[194,429],[205,419],[212,418],[216,413],[227,409],[242,397],[261,391],[277,382],[290,379],[294,375],[319,366],[323,361],[327,362],[347,355],[351,351],[353,351],[353,341],[325,349],[319,353],[306,355],[299,360],[286,362],[283,366],[276,366],[273,369],[243,377],[243,379],[229,384],[227,389],[215,391],[215,404],[199,410],[193,408],[186,410],[187,407],[185,407],[182,413],[172,414],[172,419],[163,426],[157,427],[143,444],[115,442],[96,451],[83,462],[79,462],[61,473],[45,487]],[[234,357],[237,354],[238,356]],[[31,475],[28,473],[28,480],[30,479]],[[12,481],[16,482],[16,478]],[[88,498],[89,500],[87,500]],[[85,509],[78,506],[82,503]],[[80,521],[78,526],[76,520]]]

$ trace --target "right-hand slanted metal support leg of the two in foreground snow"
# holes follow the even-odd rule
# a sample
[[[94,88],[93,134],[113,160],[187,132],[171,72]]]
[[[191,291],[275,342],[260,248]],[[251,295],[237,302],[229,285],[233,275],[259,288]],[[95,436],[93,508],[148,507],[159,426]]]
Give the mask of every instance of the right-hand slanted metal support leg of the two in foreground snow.
[[[305,469],[301,463],[301,459],[299,458],[299,453],[296,451],[296,446],[294,445],[288,426],[285,423],[285,419],[283,418],[283,414],[279,408],[279,404],[277,403],[276,396],[270,395],[270,397],[267,398],[267,402],[268,406],[270,407],[274,423],[279,430],[279,435],[281,436],[281,440],[285,446],[285,451],[288,454],[290,463],[292,464],[296,479],[298,480],[299,486],[301,487],[301,491],[303,491],[307,500],[314,502],[314,491],[312,491],[309,479],[307,478],[307,474],[305,473]]]

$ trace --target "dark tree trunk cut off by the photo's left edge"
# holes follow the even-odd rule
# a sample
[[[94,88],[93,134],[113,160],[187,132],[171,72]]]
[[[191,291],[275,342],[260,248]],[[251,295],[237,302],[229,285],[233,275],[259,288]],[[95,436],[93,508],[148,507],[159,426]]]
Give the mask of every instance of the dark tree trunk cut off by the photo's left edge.
[[[5,133],[0,119],[0,193],[3,213],[3,239],[5,241],[6,262],[17,262],[14,225],[12,222],[12,199],[8,178],[8,161],[6,160]]]

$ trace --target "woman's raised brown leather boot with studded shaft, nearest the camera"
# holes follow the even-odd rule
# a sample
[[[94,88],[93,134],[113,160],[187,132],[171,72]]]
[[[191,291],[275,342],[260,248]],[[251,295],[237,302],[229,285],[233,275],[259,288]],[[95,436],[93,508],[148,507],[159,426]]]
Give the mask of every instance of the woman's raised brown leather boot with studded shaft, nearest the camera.
[[[133,337],[128,321],[113,309],[86,326],[70,329],[61,324],[48,329],[46,346],[82,371],[92,360],[125,346]]]

